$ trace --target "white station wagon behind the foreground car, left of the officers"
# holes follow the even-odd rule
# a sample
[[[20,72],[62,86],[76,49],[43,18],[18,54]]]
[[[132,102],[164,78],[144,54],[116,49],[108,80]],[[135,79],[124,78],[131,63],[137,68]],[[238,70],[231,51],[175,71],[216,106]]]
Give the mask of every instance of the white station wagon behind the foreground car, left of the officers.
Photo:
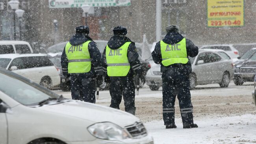
[[[0,67],[46,88],[60,84],[59,72],[46,54],[1,54]]]

